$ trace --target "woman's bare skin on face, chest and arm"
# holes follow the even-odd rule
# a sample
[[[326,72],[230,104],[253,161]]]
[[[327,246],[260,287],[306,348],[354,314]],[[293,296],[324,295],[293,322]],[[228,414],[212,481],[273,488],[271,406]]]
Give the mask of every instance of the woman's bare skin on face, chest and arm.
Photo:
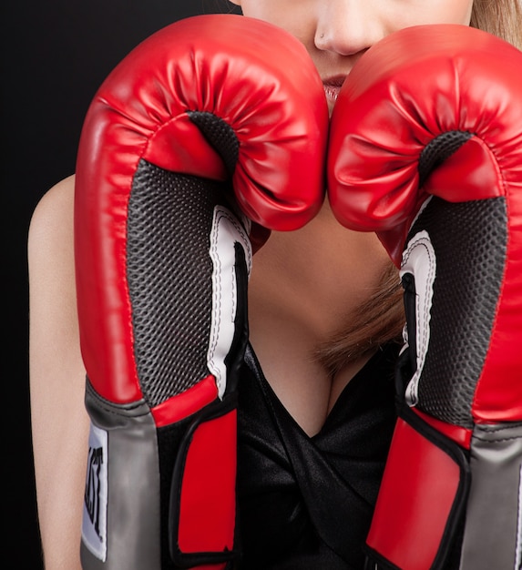
[[[243,14],[286,28],[312,57],[332,108],[370,46],[408,25],[467,24],[470,0],[243,0]],[[73,255],[74,177],[38,204],[28,239],[30,388],[38,515],[47,570],[80,568],[87,464],[85,369],[79,350]],[[251,342],[267,379],[312,435],[366,359],[334,378],[312,359],[340,316],[377,286],[386,263],[373,234],[343,229],[328,203],[303,229],[271,235],[250,286]]]

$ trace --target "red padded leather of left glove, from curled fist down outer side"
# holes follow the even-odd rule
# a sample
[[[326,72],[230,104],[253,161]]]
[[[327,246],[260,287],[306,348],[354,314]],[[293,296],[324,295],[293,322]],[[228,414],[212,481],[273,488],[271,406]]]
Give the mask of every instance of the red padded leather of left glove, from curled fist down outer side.
[[[189,110],[214,113],[234,129],[233,182],[251,219],[294,229],[321,206],[328,111],[298,40],[259,20],[205,15],[170,25],[131,52],[89,107],[77,158],[82,353],[95,390],[112,402],[141,395],[126,282],[128,197],[139,159],[225,178]]]

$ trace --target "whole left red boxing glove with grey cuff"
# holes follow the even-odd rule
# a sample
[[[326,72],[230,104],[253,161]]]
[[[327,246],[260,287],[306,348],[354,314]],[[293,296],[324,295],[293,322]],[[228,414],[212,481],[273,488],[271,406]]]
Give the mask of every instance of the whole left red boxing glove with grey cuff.
[[[327,128],[304,47],[237,15],[170,25],[98,90],[75,203],[84,568],[224,568],[237,554],[249,228],[312,219]]]

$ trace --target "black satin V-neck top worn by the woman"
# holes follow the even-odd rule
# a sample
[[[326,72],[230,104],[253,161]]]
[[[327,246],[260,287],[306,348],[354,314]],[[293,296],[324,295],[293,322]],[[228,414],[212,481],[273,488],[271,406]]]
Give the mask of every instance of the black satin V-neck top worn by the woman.
[[[395,422],[398,346],[378,351],[313,437],[286,411],[251,347],[241,373],[241,570],[363,568]]]

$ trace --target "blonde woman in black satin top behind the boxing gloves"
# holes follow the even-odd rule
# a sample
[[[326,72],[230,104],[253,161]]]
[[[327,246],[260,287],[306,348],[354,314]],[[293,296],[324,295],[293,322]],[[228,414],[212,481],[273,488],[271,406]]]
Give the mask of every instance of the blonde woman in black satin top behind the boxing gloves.
[[[343,78],[364,51],[400,28],[471,23],[514,43],[521,41],[517,37],[522,22],[517,0],[477,0],[475,5],[472,0],[243,0],[238,4],[244,15],[280,25],[302,41],[322,76],[331,108]],[[36,208],[29,234],[36,490],[46,568],[50,569],[79,567],[87,460],[89,422],[84,407],[85,369],[79,352],[72,248],[73,189],[71,177],[49,190]],[[348,548],[353,554],[337,552],[335,528],[318,530],[323,523],[321,515],[312,514],[311,519],[307,513],[310,505],[306,502],[313,502],[317,490],[302,480],[281,487],[290,473],[284,470],[274,477],[266,474],[271,472],[266,457],[251,445],[256,434],[249,432],[249,414],[279,406],[275,420],[267,416],[263,426],[281,422],[279,427],[288,437],[285,444],[291,441],[302,449],[308,449],[307,441],[312,438],[322,440],[317,445],[326,455],[335,455],[337,445],[350,449],[350,445],[361,443],[362,438],[357,441],[355,436],[357,430],[363,430],[362,447],[369,448],[369,467],[362,467],[350,485],[359,485],[357,492],[366,498],[369,510],[363,517],[367,519],[393,428],[390,376],[396,353],[394,339],[404,322],[397,276],[390,268],[374,235],[343,229],[327,203],[305,228],[274,232],[255,256],[250,285],[255,356],[253,351],[249,353],[253,373],[246,372],[250,388],[243,390],[240,407],[244,567],[360,565],[359,543],[367,520],[355,521],[353,533],[349,531],[353,544]],[[256,391],[259,399],[248,397]],[[268,402],[268,406],[258,409],[258,402]],[[344,439],[339,443],[338,437]],[[271,433],[266,433],[265,441],[270,438]],[[281,445],[274,444],[271,451],[277,455]],[[277,456],[283,463],[290,461]],[[351,463],[346,469],[353,473],[355,467]],[[328,471],[328,465],[325,469]],[[343,465],[335,464],[335,469],[343,472]],[[257,485],[261,485],[260,493]],[[272,500],[266,501],[271,494]],[[335,504],[335,496],[327,499]],[[281,523],[275,532],[267,528],[274,520]]]

